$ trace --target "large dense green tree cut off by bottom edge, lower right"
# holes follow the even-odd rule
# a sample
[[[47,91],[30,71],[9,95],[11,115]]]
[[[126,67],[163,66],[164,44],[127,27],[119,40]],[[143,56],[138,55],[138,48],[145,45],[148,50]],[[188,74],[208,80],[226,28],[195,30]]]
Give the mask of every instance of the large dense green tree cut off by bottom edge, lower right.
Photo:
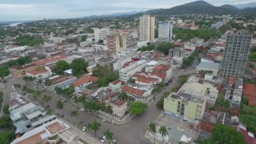
[[[240,131],[230,126],[216,124],[213,128],[209,144],[246,144]]]

